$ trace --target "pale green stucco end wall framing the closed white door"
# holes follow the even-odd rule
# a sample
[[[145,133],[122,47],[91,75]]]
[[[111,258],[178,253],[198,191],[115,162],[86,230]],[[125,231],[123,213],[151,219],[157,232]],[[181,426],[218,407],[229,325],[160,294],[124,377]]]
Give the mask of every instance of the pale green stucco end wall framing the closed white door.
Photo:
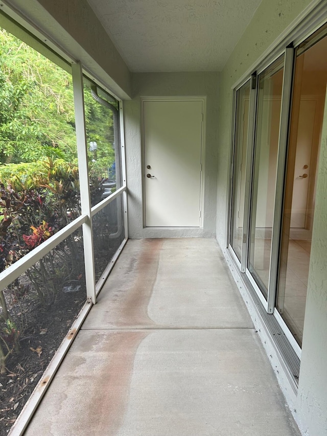
[[[124,102],[130,238],[213,237],[216,221],[219,73],[134,73],[133,99]],[[203,228],[144,228],[141,97],[206,96]]]

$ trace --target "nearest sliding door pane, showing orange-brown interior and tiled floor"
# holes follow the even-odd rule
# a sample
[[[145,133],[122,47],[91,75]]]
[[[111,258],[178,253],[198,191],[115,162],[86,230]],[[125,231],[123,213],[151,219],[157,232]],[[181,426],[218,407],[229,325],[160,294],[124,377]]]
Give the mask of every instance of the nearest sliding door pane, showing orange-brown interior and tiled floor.
[[[316,170],[326,117],[327,37],[300,45],[295,64],[291,131],[276,306],[301,346],[306,308]],[[305,50],[305,45],[312,45]],[[302,48],[303,47],[303,48]]]

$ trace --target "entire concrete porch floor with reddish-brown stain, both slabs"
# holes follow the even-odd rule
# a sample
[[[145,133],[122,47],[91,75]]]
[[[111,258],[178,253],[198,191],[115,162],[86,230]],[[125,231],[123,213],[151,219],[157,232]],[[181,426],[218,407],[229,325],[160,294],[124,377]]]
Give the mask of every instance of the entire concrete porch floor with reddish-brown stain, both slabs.
[[[214,239],[130,240],[27,436],[295,436]]]

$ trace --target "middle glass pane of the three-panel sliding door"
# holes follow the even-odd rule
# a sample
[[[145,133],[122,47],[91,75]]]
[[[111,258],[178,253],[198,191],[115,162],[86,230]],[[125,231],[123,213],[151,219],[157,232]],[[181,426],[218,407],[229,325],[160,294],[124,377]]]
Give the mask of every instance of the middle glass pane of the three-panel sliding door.
[[[259,76],[248,268],[267,299],[284,55]]]

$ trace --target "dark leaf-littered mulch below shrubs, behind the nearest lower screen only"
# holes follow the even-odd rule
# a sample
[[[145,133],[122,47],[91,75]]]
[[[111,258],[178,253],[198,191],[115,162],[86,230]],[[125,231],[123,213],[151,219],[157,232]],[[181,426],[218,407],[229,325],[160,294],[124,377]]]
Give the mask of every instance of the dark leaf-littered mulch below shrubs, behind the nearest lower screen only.
[[[7,373],[0,375],[0,436],[10,431],[85,300],[81,287],[60,294],[48,308],[35,307],[28,299],[23,303],[28,326],[20,337],[19,354],[8,359]]]

